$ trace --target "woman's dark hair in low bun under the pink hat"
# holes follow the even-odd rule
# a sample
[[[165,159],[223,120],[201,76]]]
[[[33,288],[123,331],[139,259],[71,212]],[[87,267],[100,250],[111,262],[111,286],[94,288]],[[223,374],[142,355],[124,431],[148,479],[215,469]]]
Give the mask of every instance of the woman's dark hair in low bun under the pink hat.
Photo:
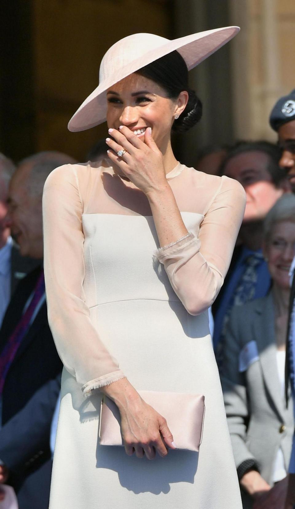
[[[142,67],[137,73],[162,87],[169,99],[176,99],[184,90],[189,93],[189,101],[180,117],[174,121],[173,131],[185,132],[199,122],[202,117],[202,103],[194,90],[189,88],[189,71],[178,51],[162,56]]]

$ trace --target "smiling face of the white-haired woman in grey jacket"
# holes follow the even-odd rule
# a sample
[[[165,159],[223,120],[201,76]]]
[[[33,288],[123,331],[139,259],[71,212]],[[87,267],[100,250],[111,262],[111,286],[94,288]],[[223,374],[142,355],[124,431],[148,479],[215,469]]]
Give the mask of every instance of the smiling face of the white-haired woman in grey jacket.
[[[282,289],[290,288],[289,270],[295,256],[295,222],[278,221],[264,247],[273,281]]]

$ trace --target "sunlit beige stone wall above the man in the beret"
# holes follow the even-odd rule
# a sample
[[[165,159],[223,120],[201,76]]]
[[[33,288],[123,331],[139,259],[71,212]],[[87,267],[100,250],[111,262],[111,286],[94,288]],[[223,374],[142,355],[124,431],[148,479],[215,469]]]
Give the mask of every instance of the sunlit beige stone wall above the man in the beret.
[[[269,114],[295,88],[294,0],[230,0],[234,127],[237,138],[275,140]]]

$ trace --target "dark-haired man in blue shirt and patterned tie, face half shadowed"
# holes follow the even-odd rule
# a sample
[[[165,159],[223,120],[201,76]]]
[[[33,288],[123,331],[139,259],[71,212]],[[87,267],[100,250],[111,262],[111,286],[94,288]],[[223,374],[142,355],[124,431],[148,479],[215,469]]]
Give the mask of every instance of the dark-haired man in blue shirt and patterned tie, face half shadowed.
[[[220,170],[221,175],[243,185],[247,203],[230,269],[212,306],[218,357],[222,357],[222,338],[233,306],[264,297],[270,289],[271,277],[261,250],[262,223],[281,195],[290,191],[279,167],[280,157],[280,149],[272,143],[239,142],[228,152]]]

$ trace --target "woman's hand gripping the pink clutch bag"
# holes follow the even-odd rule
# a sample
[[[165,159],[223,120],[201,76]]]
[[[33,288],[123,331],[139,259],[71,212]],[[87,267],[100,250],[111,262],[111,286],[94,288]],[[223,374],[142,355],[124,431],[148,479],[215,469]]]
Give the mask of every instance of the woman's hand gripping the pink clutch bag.
[[[128,456],[135,452],[138,458],[146,455],[152,460],[156,451],[165,457],[168,454],[166,446],[176,448],[166,419],[145,403],[126,378],[102,387],[101,391],[119,408],[121,432]]]

